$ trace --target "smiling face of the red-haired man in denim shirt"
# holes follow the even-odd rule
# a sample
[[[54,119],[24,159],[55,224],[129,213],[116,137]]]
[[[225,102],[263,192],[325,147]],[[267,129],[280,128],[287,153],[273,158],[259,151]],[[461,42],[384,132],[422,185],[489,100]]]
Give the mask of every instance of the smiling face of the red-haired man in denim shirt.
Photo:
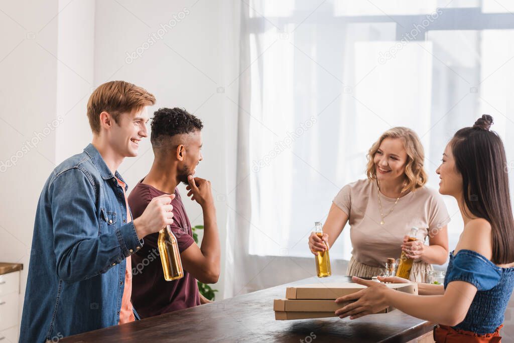
[[[148,136],[148,119],[148,110],[145,106],[138,111],[121,114],[118,122],[112,120],[108,139],[116,153],[122,157],[137,156],[140,140]]]

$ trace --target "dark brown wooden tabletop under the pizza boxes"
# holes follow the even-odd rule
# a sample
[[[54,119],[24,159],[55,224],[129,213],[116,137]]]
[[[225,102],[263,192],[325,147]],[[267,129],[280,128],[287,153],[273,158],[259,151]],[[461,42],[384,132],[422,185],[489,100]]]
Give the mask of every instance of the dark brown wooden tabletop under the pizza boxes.
[[[327,282],[350,282],[332,276]],[[315,343],[407,342],[432,331],[434,324],[399,310],[359,319],[275,320],[273,299],[285,298],[286,287],[319,282],[317,277],[215,301],[194,308],[61,339],[67,342],[299,342],[311,333]],[[308,339],[310,341],[310,339]]]

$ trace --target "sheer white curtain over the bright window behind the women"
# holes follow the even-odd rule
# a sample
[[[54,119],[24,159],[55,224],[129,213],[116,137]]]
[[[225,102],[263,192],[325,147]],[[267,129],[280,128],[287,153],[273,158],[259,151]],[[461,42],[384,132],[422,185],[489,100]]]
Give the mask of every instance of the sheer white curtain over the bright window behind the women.
[[[226,296],[315,275],[314,222],[365,177],[366,152],[391,127],[418,133],[437,188],[453,133],[490,114],[512,174],[514,9],[448,2],[243,0]],[[453,249],[462,219],[445,201]],[[350,252],[347,227],[331,249],[334,273]]]

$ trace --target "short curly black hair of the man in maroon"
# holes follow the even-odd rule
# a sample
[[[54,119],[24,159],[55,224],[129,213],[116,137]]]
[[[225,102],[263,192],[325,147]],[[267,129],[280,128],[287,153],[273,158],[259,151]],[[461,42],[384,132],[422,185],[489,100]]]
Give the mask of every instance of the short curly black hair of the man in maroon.
[[[174,109],[163,108],[155,111],[151,128],[150,141],[152,146],[160,147],[163,145],[164,139],[199,131],[204,128],[204,124],[185,109],[175,107]]]

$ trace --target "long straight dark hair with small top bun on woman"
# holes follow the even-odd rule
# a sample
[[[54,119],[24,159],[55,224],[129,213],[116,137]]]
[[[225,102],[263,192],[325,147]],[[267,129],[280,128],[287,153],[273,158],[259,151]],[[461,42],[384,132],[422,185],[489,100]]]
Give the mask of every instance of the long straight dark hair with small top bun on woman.
[[[492,228],[495,264],[514,261],[514,218],[503,142],[489,131],[492,117],[484,114],[472,128],[458,130],[451,140],[455,167],[462,175],[463,197],[469,211]]]

